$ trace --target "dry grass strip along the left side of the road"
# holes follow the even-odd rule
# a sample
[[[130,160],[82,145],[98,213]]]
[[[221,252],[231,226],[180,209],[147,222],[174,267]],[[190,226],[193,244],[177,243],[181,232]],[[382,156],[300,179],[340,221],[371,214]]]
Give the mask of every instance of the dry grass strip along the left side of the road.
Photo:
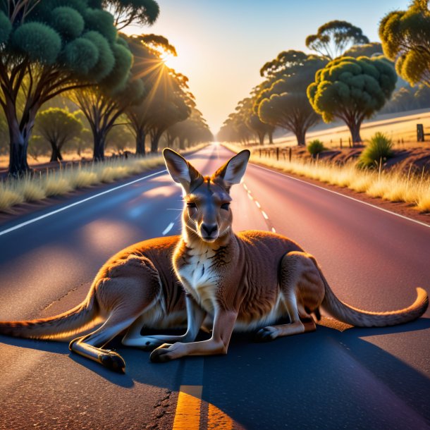
[[[197,145],[183,152],[196,151],[206,145]],[[78,188],[137,175],[164,164],[162,156],[147,158],[111,159],[102,163],[82,164],[47,171],[39,175],[0,181],[0,211],[16,204],[34,202],[50,196],[65,195]]]

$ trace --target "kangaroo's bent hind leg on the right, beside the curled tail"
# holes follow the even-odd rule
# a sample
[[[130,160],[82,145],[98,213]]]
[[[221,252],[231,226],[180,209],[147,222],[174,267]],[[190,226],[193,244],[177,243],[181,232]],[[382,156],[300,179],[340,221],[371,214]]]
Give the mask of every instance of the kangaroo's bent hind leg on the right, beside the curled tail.
[[[289,324],[267,326],[257,331],[256,340],[267,342],[281,336],[315,331],[310,315],[319,315],[324,298],[324,283],[314,257],[305,252],[289,252],[281,261],[280,280],[282,300]]]

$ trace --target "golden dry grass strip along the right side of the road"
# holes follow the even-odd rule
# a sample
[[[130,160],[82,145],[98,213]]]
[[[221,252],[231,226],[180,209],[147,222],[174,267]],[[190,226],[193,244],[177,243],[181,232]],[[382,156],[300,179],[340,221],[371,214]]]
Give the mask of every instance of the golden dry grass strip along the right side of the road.
[[[228,149],[238,152],[243,149],[237,145],[223,144]],[[391,202],[411,204],[420,212],[430,212],[430,176],[425,174],[413,175],[396,171],[375,171],[357,168],[352,161],[344,166],[329,164],[323,161],[317,163],[297,159],[276,161],[251,156],[251,161],[277,168],[288,173],[306,176],[321,182],[364,192],[371,197],[380,197]]]

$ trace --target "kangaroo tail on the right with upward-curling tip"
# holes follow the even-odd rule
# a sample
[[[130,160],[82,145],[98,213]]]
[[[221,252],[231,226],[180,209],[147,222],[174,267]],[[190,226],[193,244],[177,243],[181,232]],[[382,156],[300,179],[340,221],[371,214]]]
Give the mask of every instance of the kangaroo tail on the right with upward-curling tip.
[[[321,271],[320,271],[321,274]],[[341,302],[334,295],[326,278],[321,274],[324,281],[325,295],[322,307],[339,321],[357,327],[385,327],[407,323],[417,319],[426,312],[429,306],[429,297],[425,290],[417,288],[417,299],[409,307],[391,312],[368,312],[357,309]]]

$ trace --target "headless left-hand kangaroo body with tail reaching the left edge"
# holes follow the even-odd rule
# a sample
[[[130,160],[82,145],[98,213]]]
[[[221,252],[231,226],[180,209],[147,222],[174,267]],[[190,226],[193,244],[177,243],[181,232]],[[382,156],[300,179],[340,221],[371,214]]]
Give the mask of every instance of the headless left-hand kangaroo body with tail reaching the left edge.
[[[153,350],[164,342],[195,340],[199,327],[183,336],[141,336],[142,326],[185,326],[201,319],[199,309],[188,306],[182,286],[176,281],[171,259],[179,237],[145,240],[125,248],[99,270],[85,300],[55,317],[32,321],[0,321],[0,333],[20,338],[71,340],[69,348],[113,371],[124,372],[125,361],[117,352],[104,349],[112,338],[126,330],[123,345]],[[187,311],[188,309],[188,311]],[[187,314],[194,312],[197,315]],[[102,322],[102,325],[85,334]]]

